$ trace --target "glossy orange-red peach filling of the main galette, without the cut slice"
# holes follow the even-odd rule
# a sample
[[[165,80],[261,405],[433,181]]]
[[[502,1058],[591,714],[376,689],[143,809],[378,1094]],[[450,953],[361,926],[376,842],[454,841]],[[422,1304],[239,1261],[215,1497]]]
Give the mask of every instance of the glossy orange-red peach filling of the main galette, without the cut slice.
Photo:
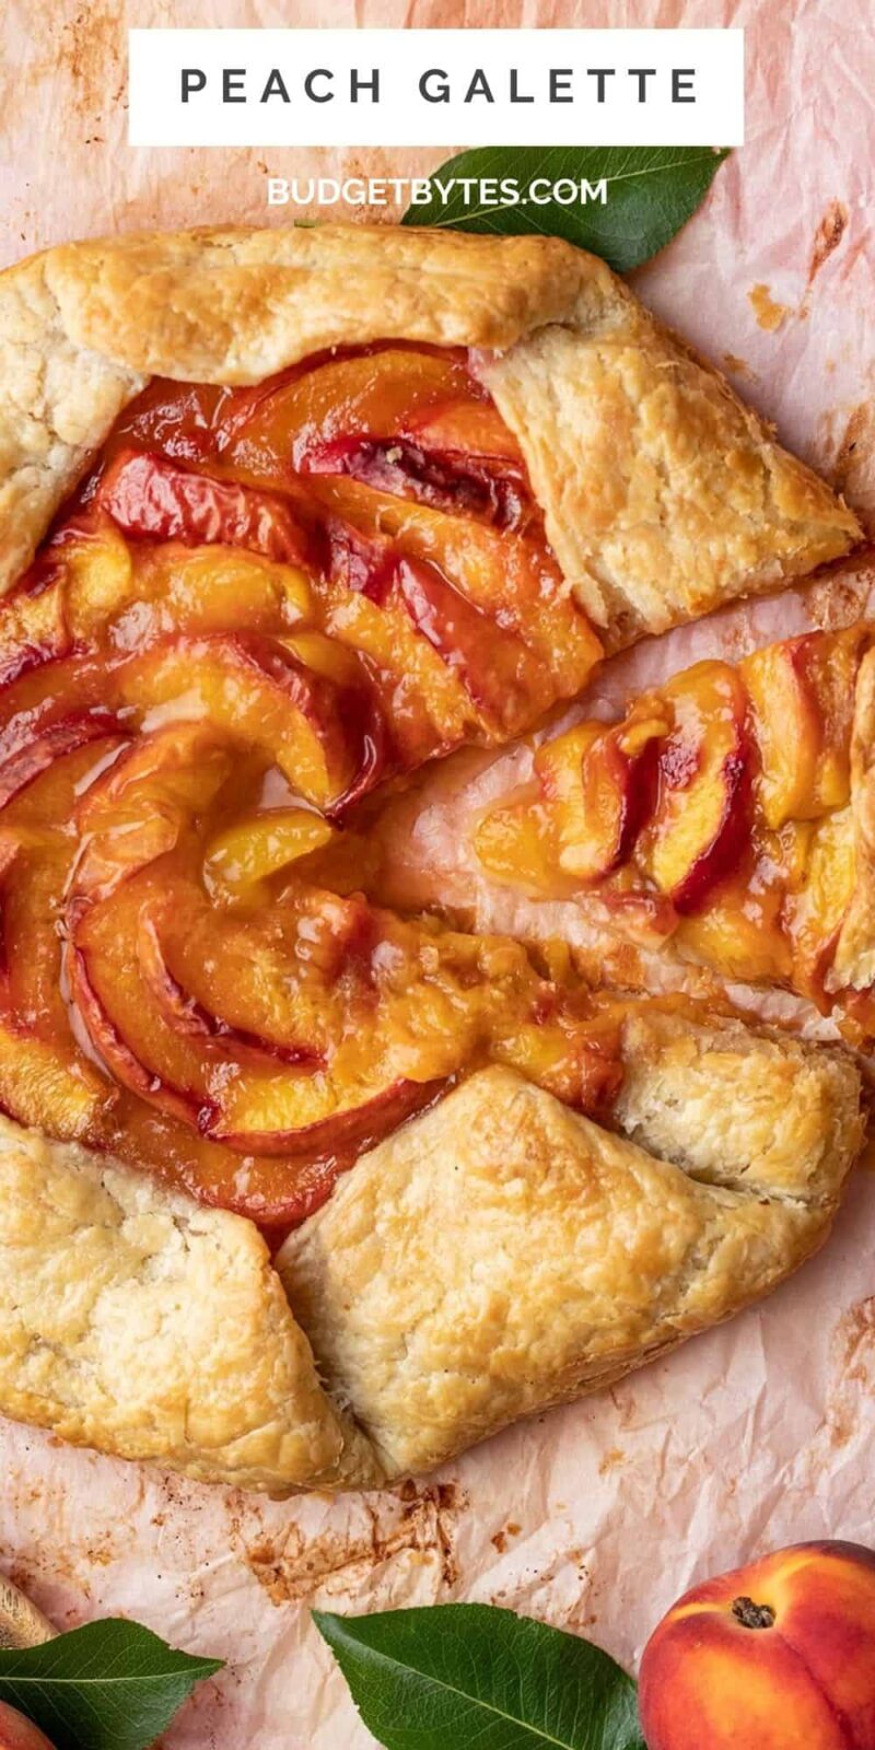
[[[341,828],[597,656],[464,355],[152,383],[0,612],[4,1108],[266,1225],[481,1062],[606,1110],[618,1004]]]

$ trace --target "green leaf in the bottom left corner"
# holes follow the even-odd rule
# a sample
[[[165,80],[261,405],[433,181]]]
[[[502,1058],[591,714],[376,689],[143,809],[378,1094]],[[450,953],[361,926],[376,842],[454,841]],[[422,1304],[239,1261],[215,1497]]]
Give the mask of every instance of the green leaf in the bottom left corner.
[[[175,1652],[121,1617],[86,1622],[42,1647],[0,1652],[0,1701],[58,1750],[145,1750],[220,1659]]]

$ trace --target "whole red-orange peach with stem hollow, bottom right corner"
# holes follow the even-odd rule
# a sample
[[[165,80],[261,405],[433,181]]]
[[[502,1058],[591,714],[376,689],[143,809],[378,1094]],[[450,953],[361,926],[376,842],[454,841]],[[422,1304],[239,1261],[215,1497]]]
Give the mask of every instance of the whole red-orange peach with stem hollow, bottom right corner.
[[[875,1750],[875,1552],[794,1544],[695,1586],[639,1706],[648,1750]]]

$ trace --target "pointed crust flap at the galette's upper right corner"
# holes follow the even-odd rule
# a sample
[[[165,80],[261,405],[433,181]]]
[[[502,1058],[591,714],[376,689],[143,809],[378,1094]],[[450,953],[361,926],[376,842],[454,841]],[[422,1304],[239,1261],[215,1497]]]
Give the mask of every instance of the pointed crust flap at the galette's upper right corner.
[[[861,536],[726,380],[621,292],[483,373],[562,570],[614,649],[774,590]]]

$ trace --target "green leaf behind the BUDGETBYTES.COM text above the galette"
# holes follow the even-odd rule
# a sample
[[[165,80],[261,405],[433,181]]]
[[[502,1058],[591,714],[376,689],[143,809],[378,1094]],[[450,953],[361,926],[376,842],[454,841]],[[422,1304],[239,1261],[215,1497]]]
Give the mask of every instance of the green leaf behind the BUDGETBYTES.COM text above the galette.
[[[401,222],[502,236],[541,231],[564,236],[602,256],[618,273],[628,273],[670,243],[702,205],[726,156],[726,150],[714,152],[707,145],[480,145],[434,170],[429,205],[408,206]],[[458,186],[464,177],[514,178],[520,205],[467,205]],[[536,178],[556,184],[569,177],[590,187],[604,178],[606,205],[576,201],[562,206],[551,200],[541,206],[532,201]],[[444,186],[455,178],[446,201],[438,192],[436,178]]]

